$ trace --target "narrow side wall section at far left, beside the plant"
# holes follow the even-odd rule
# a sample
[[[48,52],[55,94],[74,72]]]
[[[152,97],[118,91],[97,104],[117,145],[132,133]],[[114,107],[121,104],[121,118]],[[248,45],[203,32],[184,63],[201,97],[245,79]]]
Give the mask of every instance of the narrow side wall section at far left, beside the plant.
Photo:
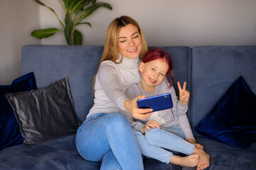
[[[21,76],[21,47],[40,44],[31,37],[39,26],[38,5],[28,0],[0,0],[0,84],[11,84]]]

